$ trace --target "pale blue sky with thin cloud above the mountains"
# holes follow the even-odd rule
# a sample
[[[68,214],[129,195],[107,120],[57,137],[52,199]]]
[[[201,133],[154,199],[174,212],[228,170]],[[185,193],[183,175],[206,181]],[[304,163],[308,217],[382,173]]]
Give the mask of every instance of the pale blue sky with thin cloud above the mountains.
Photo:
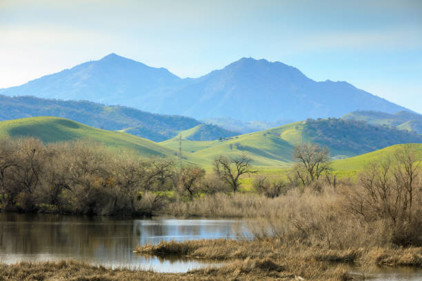
[[[421,15],[421,0],[0,0],[0,88],[112,52],[183,78],[252,56],[422,113]]]

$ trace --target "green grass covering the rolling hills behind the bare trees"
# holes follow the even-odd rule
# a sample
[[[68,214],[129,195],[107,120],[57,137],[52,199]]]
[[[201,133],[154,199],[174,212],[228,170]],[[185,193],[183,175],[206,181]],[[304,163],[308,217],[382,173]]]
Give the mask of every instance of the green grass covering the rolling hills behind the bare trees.
[[[248,154],[254,160],[253,165],[260,175],[269,178],[285,178],[285,171],[293,164],[292,150],[297,143],[309,141],[303,134],[303,122],[290,123],[281,127],[266,129],[261,132],[243,134],[222,141],[189,141],[187,138],[196,132],[197,127],[181,132],[182,155],[185,163],[200,165],[208,171],[212,169],[214,158],[223,155],[236,157]],[[44,143],[88,139],[103,143],[112,149],[130,149],[147,157],[177,156],[179,137],[162,143],[154,143],[145,138],[125,134],[124,132],[96,129],[66,118],[32,117],[0,122],[0,136],[40,138]],[[414,144],[421,151],[422,144]],[[333,168],[339,176],[356,174],[370,160],[381,160],[392,156],[397,148],[403,145],[393,145],[384,149],[346,158],[334,160]],[[252,182],[252,179],[245,179]]]

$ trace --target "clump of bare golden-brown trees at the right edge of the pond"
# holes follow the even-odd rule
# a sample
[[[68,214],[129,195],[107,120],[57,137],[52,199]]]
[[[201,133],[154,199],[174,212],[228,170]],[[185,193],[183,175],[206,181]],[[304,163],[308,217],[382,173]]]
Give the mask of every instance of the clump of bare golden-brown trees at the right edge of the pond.
[[[422,244],[421,160],[406,147],[370,163],[346,192],[345,207],[365,223],[384,222],[395,244]]]

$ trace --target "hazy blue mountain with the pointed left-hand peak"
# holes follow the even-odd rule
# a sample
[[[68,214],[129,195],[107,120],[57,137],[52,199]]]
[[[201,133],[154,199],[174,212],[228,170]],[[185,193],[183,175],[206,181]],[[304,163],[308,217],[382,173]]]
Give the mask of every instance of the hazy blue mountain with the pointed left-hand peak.
[[[130,106],[130,101],[139,95],[147,95],[181,81],[165,68],[149,67],[117,54],[109,54],[99,61],[81,63],[21,86],[0,90],[0,94]]]

